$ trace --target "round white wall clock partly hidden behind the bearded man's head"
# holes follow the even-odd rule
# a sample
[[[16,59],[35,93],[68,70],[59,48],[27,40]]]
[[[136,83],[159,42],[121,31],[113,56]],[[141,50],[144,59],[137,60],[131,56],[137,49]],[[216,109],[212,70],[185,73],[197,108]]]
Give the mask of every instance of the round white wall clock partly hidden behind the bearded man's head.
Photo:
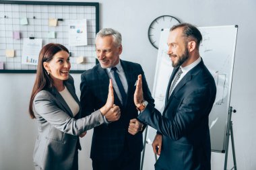
[[[164,28],[172,28],[172,26],[180,24],[179,20],[170,15],[162,15],[154,19],[154,21],[150,24],[150,28],[148,28],[148,39],[152,46],[158,49],[159,40],[160,40],[160,32]]]

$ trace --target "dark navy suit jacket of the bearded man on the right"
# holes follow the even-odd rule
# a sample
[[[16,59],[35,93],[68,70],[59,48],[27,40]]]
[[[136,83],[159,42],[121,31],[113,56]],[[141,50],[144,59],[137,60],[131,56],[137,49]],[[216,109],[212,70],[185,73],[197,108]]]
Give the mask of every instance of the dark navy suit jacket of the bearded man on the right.
[[[201,60],[181,79],[168,99],[168,89],[178,69],[170,77],[163,115],[149,104],[138,119],[162,134],[162,152],[156,167],[211,169],[208,116],[216,97],[214,78]]]

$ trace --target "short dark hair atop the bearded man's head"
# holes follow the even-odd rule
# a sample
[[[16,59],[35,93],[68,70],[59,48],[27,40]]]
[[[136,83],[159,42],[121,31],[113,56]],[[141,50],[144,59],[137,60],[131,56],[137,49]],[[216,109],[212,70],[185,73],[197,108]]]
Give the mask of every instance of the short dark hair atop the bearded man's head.
[[[197,48],[199,48],[202,40],[202,35],[201,35],[201,32],[195,26],[188,23],[182,23],[182,24],[172,26],[172,28],[170,28],[170,31],[173,31],[177,28],[183,28],[183,36],[196,40]]]

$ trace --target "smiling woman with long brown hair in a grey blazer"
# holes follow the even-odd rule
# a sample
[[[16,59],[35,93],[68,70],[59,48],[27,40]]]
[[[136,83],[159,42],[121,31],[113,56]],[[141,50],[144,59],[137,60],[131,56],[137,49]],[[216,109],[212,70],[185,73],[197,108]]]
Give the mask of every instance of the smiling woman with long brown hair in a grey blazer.
[[[65,46],[51,43],[40,51],[29,106],[30,116],[38,124],[33,155],[35,169],[78,169],[77,149],[81,150],[78,136],[103,124],[106,113],[120,117],[119,107],[113,105],[110,81],[106,104],[81,118],[70,68],[69,50]]]

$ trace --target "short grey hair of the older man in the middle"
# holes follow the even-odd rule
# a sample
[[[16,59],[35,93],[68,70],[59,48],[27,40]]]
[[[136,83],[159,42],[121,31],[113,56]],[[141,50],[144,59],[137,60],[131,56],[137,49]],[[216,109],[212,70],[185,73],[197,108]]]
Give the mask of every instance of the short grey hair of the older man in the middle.
[[[113,41],[117,46],[120,46],[122,44],[122,36],[120,32],[112,29],[112,28],[103,28],[96,34],[96,39],[98,37],[105,37],[105,36],[112,36]]]

